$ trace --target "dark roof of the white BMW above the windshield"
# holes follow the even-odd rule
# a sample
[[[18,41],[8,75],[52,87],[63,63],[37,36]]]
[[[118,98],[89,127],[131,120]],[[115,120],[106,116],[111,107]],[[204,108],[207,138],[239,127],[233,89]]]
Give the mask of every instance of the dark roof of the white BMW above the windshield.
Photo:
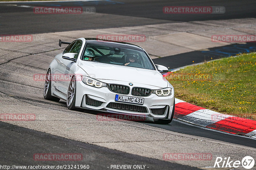
[[[119,41],[112,41],[112,40],[107,40],[107,39],[97,39],[97,38],[84,38],[87,40],[87,43],[92,43],[92,44],[105,44],[105,45],[118,45],[122,47],[127,47],[127,48],[133,48],[133,49],[138,49],[138,50],[143,50],[142,47],[130,44],[127,42],[119,42]]]

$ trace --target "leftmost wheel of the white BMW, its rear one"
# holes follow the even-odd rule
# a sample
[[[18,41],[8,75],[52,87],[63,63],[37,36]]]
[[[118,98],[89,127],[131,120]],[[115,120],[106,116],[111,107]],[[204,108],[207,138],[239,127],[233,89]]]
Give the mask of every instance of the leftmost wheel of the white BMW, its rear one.
[[[44,82],[44,99],[46,100],[51,100],[54,102],[59,102],[60,99],[58,97],[52,96],[52,74],[51,74],[51,69],[48,70]]]

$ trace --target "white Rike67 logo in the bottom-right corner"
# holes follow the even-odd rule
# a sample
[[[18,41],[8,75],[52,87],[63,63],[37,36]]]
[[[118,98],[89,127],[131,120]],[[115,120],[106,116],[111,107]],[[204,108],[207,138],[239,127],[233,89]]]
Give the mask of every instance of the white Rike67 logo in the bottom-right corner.
[[[254,166],[254,159],[251,156],[245,156],[242,161],[240,160],[231,160],[230,157],[228,157],[228,159],[225,157],[224,159],[222,159],[221,157],[217,157],[214,163],[214,168],[215,167],[234,167],[234,168],[238,168],[239,166],[243,166],[245,169],[251,169]]]

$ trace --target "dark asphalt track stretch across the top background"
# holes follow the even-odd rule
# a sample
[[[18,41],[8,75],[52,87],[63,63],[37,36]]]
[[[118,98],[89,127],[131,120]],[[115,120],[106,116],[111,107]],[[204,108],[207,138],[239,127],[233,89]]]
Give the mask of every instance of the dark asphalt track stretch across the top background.
[[[231,3],[232,2],[232,3]],[[213,19],[254,18],[255,1],[170,1],[168,0],[119,0],[55,3],[14,3],[28,6],[93,6],[96,14],[82,15],[35,15],[31,8],[1,5],[1,34],[34,34],[72,30],[112,28],[147,24]],[[173,14],[163,13],[163,6],[225,6],[222,14]],[[238,8],[239,7],[239,8]],[[12,10],[10,10],[12,9]],[[246,9],[246,10],[245,10]],[[51,24],[49,24],[49,22]],[[28,26],[29,25],[29,26]]]

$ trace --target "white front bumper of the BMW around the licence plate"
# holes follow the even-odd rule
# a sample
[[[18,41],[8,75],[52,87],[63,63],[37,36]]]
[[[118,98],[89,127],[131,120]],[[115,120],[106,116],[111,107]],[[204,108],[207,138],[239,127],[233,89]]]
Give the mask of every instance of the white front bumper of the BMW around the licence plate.
[[[124,85],[129,82],[108,80],[108,83]],[[130,88],[130,93],[128,95],[124,95],[112,92],[107,87],[95,88],[84,84],[83,81],[76,81],[76,107],[110,113],[143,116],[147,118],[171,119],[174,101],[173,88],[172,95],[170,96],[157,96],[156,94],[151,94],[149,96],[132,96],[132,87],[160,89],[150,85],[133,83],[133,86]],[[116,102],[116,94],[144,98],[144,103],[143,105],[139,105]]]

